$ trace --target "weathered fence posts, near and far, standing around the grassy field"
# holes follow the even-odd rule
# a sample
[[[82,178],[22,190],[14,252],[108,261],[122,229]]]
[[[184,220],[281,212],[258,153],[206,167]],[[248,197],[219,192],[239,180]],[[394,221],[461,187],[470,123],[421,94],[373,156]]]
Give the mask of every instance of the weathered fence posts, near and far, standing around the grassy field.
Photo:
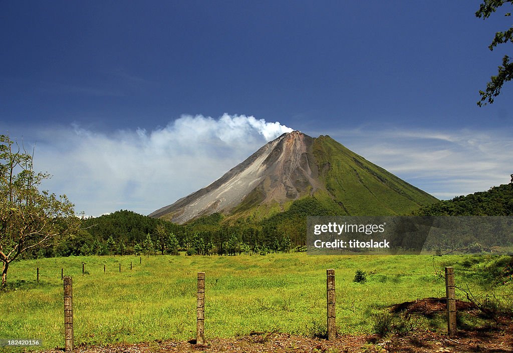
[[[84,274],[85,264],[82,263],[82,273]],[[121,273],[121,263],[119,265]],[[130,262],[132,269],[132,262]],[[105,272],[105,265],[104,265]],[[63,274],[63,269],[61,269]],[[37,276],[39,276],[39,268],[37,268]],[[335,287],[335,270],[330,268],[326,270],[326,322],[327,322],[327,339],[329,341],[336,340],[336,287]],[[198,345],[205,345],[205,272],[198,272],[197,300],[196,300],[196,340]],[[72,277],[64,276],[64,338],[65,350],[72,351],[74,348],[74,330],[73,330],[73,290]],[[455,274],[452,267],[445,267],[445,312],[447,319],[447,334],[455,336],[457,334],[456,327],[456,297],[455,297]]]

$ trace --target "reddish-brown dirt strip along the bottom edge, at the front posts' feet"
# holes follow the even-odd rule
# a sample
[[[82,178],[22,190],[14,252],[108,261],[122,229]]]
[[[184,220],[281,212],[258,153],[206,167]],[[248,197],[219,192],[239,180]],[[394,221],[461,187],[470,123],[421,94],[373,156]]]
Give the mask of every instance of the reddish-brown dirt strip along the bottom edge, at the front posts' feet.
[[[356,352],[481,352],[511,353],[513,351],[513,327],[506,332],[460,333],[448,338],[431,332],[415,333],[405,337],[382,339],[377,336],[343,336],[329,342],[319,338],[306,338],[287,334],[266,333],[235,339],[209,339],[206,345],[187,341],[154,341],[139,344],[117,344],[112,346],[78,346],[80,353],[356,353]],[[48,353],[62,353],[62,350],[48,350]]]

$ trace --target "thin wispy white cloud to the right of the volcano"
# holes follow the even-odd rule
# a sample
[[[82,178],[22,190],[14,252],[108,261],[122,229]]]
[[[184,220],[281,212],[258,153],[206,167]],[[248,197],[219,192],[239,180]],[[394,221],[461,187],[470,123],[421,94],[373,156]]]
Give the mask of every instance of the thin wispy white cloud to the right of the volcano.
[[[513,136],[507,131],[354,129],[331,136],[440,199],[508,183],[513,173]]]

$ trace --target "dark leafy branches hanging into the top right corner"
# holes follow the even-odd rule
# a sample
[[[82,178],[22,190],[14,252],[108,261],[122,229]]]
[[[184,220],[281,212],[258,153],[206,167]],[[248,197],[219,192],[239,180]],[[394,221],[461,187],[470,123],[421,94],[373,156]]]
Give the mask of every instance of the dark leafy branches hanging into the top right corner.
[[[506,3],[513,5],[513,0],[484,0],[476,12],[476,17],[486,19]],[[511,16],[511,12],[506,12],[504,15]],[[488,49],[493,51],[497,45],[508,42],[513,43],[513,26],[504,32],[497,32]],[[486,84],[486,91],[479,91],[481,99],[478,101],[478,106],[482,107],[487,103],[493,103],[494,98],[501,93],[504,82],[511,79],[513,79],[513,60],[508,55],[504,55],[497,75],[491,76],[490,81]]]

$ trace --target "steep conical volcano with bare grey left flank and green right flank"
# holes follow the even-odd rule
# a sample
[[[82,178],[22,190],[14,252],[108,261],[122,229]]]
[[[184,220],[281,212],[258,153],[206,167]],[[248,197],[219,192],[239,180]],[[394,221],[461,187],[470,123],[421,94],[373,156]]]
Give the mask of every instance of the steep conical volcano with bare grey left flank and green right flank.
[[[175,223],[221,213],[262,219],[315,198],[338,215],[402,215],[438,201],[329,136],[299,131],[268,142],[206,188],[151,213]]]

